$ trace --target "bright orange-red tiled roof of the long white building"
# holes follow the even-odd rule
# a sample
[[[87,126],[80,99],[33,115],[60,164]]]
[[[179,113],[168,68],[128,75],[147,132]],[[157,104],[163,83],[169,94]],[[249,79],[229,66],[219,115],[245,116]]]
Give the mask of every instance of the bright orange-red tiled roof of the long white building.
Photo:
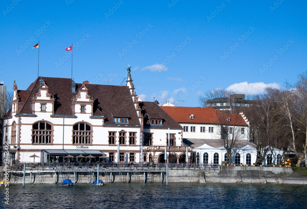
[[[242,116],[239,114],[222,114],[213,108],[200,107],[169,107],[161,106],[177,123],[194,123],[194,124],[225,124],[226,118],[230,117],[229,125],[247,126]],[[193,114],[194,119],[190,119]]]

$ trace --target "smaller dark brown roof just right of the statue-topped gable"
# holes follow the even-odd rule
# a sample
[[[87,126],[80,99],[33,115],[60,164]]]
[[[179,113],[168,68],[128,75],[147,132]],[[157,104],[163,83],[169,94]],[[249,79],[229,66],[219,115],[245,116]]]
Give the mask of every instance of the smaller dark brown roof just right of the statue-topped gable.
[[[169,114],[167,114],[159,105],[155,102],[140,102],[141,114],[144,117],[144,126],[151,126],[150,119],[161,119],[163,126],[161,127],[176,127],[182,128]],[[146,117],[149,116],[149,117]]]

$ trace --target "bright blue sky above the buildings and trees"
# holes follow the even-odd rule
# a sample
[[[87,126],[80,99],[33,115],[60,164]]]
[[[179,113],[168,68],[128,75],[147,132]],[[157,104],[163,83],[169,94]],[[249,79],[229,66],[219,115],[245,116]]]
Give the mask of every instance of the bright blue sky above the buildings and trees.
[[[306,70],[306,4],[3,0],[0,80],[26,89],[37,78],[39,39],[39,76],[71,78],[73,43],[76,82],[120,85],[131,65],[143,101],[197,107],[213,88],[262,93]]]

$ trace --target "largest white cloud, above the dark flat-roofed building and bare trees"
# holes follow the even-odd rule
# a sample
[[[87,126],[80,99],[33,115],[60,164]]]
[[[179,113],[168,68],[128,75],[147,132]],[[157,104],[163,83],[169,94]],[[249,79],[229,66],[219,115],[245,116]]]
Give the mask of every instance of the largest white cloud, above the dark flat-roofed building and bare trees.
[[[255,82],[255,83],[247,83],[247,82],[241,82],[241,83],[235,83],[230,86],[228,86],[227,90],[233,90],[235,93],[242,93],[242,94],[262,94],[264,93],[264,89],[266,87],[272,87],[279,89],[280,86],[278,83],[269,83],[265,84],[263,82]]]

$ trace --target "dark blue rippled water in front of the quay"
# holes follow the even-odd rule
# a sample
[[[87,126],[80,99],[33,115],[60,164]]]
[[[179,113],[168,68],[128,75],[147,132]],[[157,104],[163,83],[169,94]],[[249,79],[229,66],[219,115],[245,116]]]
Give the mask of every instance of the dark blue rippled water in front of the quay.
[[[26,184],[1,208],[307,208],[307,186],[278,184]]]

